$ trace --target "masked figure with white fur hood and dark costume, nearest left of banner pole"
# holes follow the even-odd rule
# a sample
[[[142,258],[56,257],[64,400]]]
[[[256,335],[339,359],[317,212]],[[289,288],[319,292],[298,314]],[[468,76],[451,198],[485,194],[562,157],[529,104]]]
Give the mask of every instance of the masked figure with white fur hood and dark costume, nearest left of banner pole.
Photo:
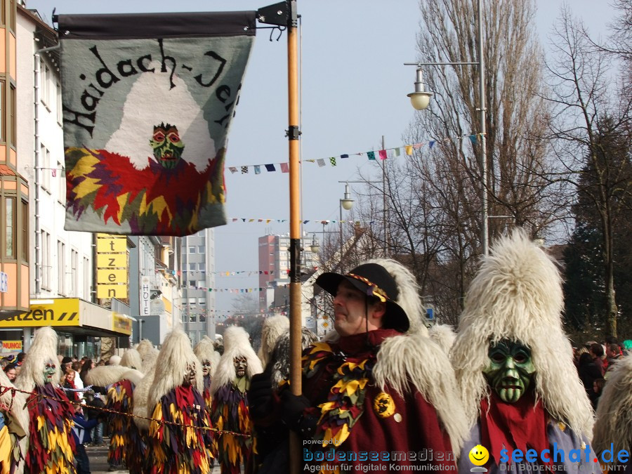
[[[239,474],[239,466],[249,465],[253,449],[247,391],[252,376],[263,368],[242,327],[226,329],[223,341],[224,353],[211,383],[211,420],[218,430],[216,449],[222,474]]]

